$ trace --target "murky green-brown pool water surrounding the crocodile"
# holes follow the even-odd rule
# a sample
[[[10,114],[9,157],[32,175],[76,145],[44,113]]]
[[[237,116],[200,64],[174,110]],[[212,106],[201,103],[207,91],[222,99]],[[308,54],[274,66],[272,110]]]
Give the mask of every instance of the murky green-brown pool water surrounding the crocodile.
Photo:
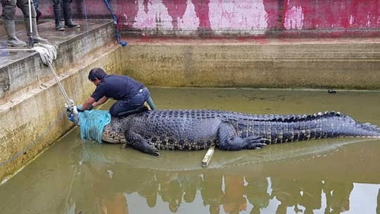
[[[341,111],[380,125],[380,92],[151,89],[158,108]],[[258,151],[161,151],[81,141],[77,128],[0,186],[1,213],[380,213],[380,140]]]

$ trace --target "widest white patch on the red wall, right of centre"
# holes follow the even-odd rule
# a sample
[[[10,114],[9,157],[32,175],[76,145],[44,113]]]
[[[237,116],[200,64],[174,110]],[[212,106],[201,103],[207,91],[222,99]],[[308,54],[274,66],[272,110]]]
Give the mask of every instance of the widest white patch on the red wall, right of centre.
[[[267,12],[262,0],[210,0],[209,6],[210,25],[214,31],[263,33],[267,29]]]

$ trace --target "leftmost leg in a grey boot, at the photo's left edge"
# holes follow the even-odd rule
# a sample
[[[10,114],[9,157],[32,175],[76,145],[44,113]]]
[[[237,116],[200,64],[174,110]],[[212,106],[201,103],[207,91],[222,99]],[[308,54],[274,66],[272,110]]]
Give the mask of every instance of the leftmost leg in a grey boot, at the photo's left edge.
[[[3,13],[1,17],[3,19],[6,35],[8,36],[8,45],[10,46],[26,46],[26,43],[21,41],[15,36],[15,7],[16,0],[1,0],[1,6],[3,7]]]

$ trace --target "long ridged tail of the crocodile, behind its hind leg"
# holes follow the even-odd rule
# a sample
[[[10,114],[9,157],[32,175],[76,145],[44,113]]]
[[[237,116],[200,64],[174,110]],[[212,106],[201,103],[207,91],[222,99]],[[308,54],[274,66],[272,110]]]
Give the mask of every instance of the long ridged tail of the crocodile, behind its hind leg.
[[[230,118],[243,137],[260,135],[270,144],[329,137],[380,138],[380,128],[335,112],[314,115],[243,115]]]

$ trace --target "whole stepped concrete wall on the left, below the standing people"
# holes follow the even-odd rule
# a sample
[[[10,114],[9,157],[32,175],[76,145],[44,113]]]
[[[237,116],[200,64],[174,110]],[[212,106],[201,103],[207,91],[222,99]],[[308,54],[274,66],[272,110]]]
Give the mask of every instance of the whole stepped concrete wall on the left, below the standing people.
[[[46,30],[42,36],[58,46],[58,58],[53,64],[68,96],[77,103],[94,90],[87,80],[91,68],[102,67],[115,73],[122,70],[115,62],[120,57],[114,55],[118,45],[110,20],[91,20],[88,32],[56,32],[51,23],[40,28]],[[33,160],[73,124],[66,118],[66,101],[56,80],[37,53],[11,52],[1,56],[0,75],[1,180]]]

